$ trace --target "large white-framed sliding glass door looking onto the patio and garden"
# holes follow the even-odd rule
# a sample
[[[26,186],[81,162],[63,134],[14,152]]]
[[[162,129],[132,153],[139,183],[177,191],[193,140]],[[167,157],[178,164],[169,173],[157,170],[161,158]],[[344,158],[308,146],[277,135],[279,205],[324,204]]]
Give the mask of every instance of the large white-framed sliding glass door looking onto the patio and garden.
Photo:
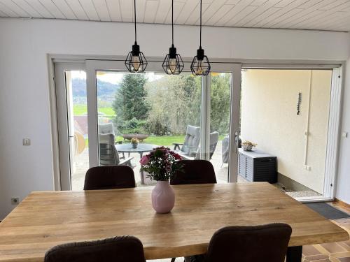
[[[145,73],[129,73],[123,61],[57,63],[61,188],[81,190],[89,167],[119,164],[133,168],[138,186],[153,184],[139,160],[158,146],[211,161],[219,183],[237,181],[230,137],[239,133],[241,67],[214,64],[195,77],[189,64],[167,75],[160,62]]]

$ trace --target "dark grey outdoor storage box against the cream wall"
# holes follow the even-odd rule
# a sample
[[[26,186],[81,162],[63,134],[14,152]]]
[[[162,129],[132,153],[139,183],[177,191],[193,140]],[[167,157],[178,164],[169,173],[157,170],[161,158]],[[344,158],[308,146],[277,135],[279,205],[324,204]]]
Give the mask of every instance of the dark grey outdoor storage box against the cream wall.
[[[254,150],[251,152],[239,148],[238,172],[251,182],[277,182],[277,157]]]

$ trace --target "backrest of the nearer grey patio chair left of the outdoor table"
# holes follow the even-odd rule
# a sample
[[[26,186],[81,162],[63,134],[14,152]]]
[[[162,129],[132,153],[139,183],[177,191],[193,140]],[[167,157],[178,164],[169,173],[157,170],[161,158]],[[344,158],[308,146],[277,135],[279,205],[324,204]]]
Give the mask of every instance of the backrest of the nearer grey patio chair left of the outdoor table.
[[[101,166],[118,165],[118,151],[114,146],[115,136],[112,133],[99,134],[99,164]]]

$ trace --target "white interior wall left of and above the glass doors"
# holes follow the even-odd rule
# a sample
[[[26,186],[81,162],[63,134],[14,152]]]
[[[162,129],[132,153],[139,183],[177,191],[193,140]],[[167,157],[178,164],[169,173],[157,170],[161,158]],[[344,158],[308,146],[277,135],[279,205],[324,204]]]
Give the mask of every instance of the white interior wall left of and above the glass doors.
[[[169,26],[138,28],[146,55],[167,53]],[[175,27],[175,44],[183,57],[195,54],[198,33],[197,27]],[[53,189],[46,54],[125,55],[133,34],[132,24],[0,19],[0,219],[13,208],[11,196]],[[345,33],[206,27],[203,34],[203,48],[211,58],[349,57]],[[31,146],[22,146],[25,137],[31,138]]]

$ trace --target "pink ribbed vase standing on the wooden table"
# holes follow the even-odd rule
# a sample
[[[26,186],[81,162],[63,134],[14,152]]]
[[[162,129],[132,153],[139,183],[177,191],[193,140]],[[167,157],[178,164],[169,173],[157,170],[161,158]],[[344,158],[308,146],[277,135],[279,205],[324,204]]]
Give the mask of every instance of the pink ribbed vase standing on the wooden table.
[[[174,189],[169,181],[157,181],[152,190],[152,206],[157,213],[170,212],[175,205]]]

